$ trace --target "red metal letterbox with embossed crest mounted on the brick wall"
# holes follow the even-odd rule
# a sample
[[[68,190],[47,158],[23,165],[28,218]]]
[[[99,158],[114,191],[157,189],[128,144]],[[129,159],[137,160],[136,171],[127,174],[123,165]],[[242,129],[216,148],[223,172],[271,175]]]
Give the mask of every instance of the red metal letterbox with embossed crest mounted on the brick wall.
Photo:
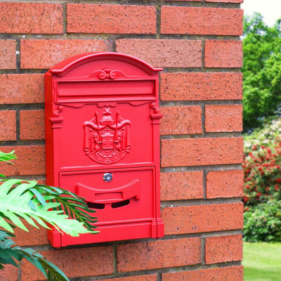
[[[46,183],[84,197],[100,230],[50,230],[54,247],[164,235],[161,70],[121,53],[84,53],[46,72]]]

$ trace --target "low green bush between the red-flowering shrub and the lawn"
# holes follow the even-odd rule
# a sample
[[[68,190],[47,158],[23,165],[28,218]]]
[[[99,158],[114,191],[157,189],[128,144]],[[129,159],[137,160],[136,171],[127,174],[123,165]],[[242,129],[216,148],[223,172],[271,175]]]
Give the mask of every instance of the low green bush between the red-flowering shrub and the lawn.
[[[244,240],[247,242],[281,241],[281,202],[268,200],[244,213]]]

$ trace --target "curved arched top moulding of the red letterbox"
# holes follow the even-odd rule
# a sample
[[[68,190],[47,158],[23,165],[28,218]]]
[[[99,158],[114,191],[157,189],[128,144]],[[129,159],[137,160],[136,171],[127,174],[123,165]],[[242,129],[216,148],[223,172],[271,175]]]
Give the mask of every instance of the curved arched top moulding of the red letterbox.
[[[67,72],[70,72],[75,67],[79,67],[86,63],[91,63],[98,60],[117,60],[124,63],[129,63],[135,67],[140,68],[147,74],[156,74],[159,71],[162,71],[162,68],[155,68],[145,63],[145,61],[135,58],[132,55],[126,55],[124,53],[81,53],[79,55],[74,55],[71,58],[67,58],[57,65],[53,66],[49,72],[56,74],[58,76],[63,76]]]

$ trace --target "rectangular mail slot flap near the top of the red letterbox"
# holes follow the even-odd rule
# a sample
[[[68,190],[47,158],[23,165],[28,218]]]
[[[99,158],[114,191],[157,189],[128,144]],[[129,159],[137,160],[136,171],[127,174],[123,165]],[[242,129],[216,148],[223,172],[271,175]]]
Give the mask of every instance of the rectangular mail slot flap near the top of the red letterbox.
[[[58,81],[58,103],[155,97],[155,80]]]

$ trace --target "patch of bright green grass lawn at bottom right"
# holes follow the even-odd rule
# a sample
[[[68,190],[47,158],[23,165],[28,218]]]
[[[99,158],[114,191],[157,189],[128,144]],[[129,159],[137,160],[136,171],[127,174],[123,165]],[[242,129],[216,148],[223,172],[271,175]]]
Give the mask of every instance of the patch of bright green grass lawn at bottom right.
[[[245,243],[244,281],[281,281],[281,243]]]

